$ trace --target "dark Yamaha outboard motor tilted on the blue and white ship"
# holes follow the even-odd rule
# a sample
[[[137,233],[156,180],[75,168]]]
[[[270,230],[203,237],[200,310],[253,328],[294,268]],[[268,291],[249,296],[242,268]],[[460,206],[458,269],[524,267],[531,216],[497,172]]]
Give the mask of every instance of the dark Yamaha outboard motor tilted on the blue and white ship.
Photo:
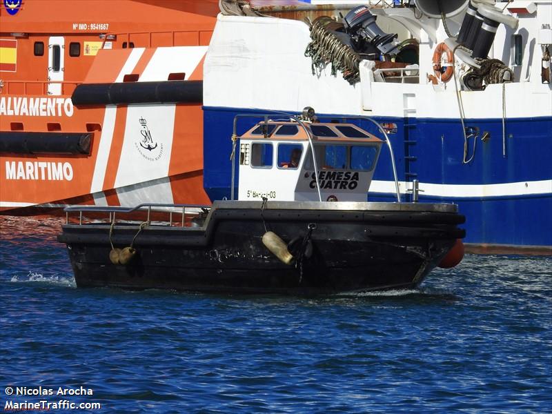
[[[376,19],[366,6],[359,6],[347,13],[343,22],[347,34],[351,36],[353,48],[363,52],[366,46],[375,46],[384,55],[396,55],[400,45],[395,40],[398,35],[383,32],[380,26],[377,26]]]

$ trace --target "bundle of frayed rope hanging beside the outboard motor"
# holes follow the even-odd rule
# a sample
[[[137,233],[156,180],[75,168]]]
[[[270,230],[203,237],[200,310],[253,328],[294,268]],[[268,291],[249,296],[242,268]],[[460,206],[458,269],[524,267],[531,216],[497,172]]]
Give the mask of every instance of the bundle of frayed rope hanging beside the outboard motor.
[[[328,31],[330,24],[336,23],[327,16],[319,17],[313,22],[311,26],[313,40],[308,43],[305,56],[313,59],[313,75],[331,63],[331,74],[337,75],[337,70],[340,70],[344,79],[353,85],[360,81],[359,63],[362,59],[335,34]]]

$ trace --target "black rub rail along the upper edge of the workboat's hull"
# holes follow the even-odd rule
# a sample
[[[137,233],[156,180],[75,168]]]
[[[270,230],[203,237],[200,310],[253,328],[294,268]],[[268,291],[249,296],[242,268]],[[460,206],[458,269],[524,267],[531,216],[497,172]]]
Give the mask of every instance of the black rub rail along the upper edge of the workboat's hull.
[[[252,201],[234,201],[229,204],[220,202],[213,206],[201,227],[150,225],[146,226],[137,237],[140,226],[138,224],[115,223],[112,226],[106,222],[101,224],[66,224],[63,226],[63,234],[59,235],[59,242],[66,244],[108,244],[112,242],[117,246],[127,246],[134,241],[138,246],[164,245],[164,246],[207,246],[210,244],[215,229],[228,221],[258,221],[259,226],[263,220],[267,223],[293,223],[305,221],[316,223],[318,226],[335,225],[336,222],[343,226],[364,228],[367,237],[431,237],[433,239],[459,239],[465,236],[463,229],[457,228],[464,223],[464,216],[451,212],[438,210],[408,211],[382,208],[380,210],[353,210],[351,208],[326,208],[306,209],[299,208],[297,204],[288,203],[295,208],[264,208],[261,215],[261,203]],[[251,206],[243,206],[250,204]],[[270,204],[270,203],[269,203]],[[282,202],[284,204],[284,202]],[[315,204],[315,203],[313,203]],[[317,203],[321,204],[321,203]],[[357,204],[359,206],[368,203],[323,203],[331,204]],[[393,206],[393,203],[374,203],[379,206]],[[238,207],[239,205],[239,207]],[[321,206],[319,206],[321,207]],[[88,211],[93,208],[88,208]],[[105,209],[103,209],[105,210]],[[110,239],[110,233],[112,239]]]

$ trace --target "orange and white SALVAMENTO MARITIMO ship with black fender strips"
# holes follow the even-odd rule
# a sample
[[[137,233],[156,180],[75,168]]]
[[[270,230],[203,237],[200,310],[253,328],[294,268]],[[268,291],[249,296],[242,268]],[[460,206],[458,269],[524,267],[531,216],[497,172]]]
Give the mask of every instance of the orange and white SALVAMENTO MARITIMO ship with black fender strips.
[[[0,210],[206,204],[217,0],[2,0]]]

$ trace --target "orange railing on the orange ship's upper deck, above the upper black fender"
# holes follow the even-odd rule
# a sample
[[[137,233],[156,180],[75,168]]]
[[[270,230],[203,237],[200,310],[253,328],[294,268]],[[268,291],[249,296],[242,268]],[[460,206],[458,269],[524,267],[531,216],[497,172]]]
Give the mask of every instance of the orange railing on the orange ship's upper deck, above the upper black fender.
[[[120,32],[102,34],[101,48],[113,42],[117,48],[159,48],[174,46],[208,46],[213,30],[159,30],[157,32]]]

